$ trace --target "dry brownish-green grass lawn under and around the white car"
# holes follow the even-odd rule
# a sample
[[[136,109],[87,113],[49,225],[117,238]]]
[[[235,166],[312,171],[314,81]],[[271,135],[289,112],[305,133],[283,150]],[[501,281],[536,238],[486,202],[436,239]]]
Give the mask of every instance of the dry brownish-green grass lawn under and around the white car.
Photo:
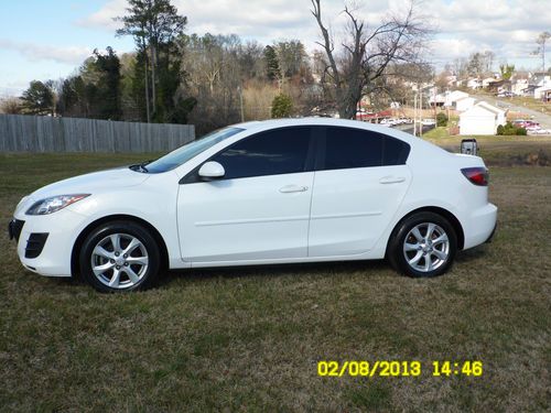
[[[484,146],[500,159],[522,144]],[[150,157],[0,154],[0,222],[48,182]],[[104,295],[23,270],[4,232],[0,411],[549,411],[551,170],[493,167],[490,194],[494,242],[433,280],[325,263],[171,273]],[[318,360],[423,372],[320,378]],[[484,374],[432,377],[433,360],[482,360]]]

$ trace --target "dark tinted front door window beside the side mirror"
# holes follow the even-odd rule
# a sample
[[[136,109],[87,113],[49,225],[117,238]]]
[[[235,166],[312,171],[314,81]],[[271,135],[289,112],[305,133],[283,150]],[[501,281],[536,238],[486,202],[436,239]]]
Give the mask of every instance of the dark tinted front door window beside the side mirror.
[[[310,128],[283,128],[244,139],[215,155],[226,180],[303,172],[310,145]]]

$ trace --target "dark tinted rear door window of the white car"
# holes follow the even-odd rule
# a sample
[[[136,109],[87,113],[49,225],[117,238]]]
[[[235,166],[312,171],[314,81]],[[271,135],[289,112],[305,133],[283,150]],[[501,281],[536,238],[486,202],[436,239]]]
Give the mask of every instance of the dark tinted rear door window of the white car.
[[[324,170],[380,166],[383,135],[352,128],[327,128]]]

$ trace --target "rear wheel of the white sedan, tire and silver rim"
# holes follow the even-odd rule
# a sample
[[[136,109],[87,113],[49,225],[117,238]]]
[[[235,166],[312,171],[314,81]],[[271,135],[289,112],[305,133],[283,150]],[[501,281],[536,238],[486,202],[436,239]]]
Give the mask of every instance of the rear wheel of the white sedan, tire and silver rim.
[[[457,252],[452,225],[434,213],[418,213],[402,220],[392,232],[387,258],[398,271],[414,278],[445,273]]]

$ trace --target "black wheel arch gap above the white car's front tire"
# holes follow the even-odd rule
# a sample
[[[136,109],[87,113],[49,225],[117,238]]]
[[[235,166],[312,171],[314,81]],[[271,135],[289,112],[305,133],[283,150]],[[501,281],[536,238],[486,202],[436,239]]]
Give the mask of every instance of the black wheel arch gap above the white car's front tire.
[[[169,269],[169,250],[166,248],[166,243],[164,242],[163,237],[158,231],[158,229],[142,218],[138,218],[133,215],[119,214],[119,215],[108,215],[106,217],[96,219],[95,221],[88,224],[88,226],[86,226],[86,228],[84,228],[80,231],[80,233],[76,238],[75,243],[73,244],[73,251],[71,253],[71,273],[73,274],[73,276],[79,273],[78,256],[80,253],[80,249],[83,248],[83,243],[86,237],[96,228],[98,228],[100,225],[117,220],[132,221],[143,226],[147,230],[149,230],[159,246],[159,252],[161,253],[161,270],[164,271]]]

